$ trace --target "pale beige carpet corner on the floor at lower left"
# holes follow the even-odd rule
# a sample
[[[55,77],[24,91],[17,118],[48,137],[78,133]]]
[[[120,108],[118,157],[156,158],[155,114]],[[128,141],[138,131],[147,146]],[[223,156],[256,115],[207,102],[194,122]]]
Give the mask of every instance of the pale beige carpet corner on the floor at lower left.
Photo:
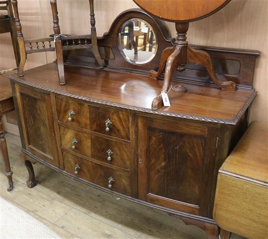
[[[58,239],[43,223],[0,198],[0,239]]]

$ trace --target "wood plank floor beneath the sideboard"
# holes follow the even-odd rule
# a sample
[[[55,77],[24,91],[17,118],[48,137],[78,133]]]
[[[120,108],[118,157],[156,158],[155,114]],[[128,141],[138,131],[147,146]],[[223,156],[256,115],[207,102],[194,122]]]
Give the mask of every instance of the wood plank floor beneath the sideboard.
[[[6,134],[14,190],[0,171],[0,196],[38,219],[62,238],[206,239],[198,227],[180,219],[63,176],[36,163],[38,185],[27,188],[28,173],[19,159],[20,139]],[[0,160],[1,161],[1,160]],[[232,239],[243,239],[232,235]]]

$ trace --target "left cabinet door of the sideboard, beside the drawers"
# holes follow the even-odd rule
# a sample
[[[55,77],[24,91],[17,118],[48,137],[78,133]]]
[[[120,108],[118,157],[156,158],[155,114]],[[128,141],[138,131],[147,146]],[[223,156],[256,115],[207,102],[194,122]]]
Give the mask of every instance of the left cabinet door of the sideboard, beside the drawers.
[[[50,95],[16,85],[25,149],[58,167]]]

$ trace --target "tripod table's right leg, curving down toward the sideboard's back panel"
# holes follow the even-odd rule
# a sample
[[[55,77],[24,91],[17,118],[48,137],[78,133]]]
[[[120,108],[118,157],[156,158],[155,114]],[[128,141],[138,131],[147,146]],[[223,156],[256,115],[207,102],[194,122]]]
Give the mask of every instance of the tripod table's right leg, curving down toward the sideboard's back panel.
[[[202,64],[208,71],[211,80],[223,90],[236,90],[236,83],[233,81],[220,81],[215,75],[211,56],[200,50],[195,50],[192,47],[188,47],[187,62],[194,62],[194,64]]]

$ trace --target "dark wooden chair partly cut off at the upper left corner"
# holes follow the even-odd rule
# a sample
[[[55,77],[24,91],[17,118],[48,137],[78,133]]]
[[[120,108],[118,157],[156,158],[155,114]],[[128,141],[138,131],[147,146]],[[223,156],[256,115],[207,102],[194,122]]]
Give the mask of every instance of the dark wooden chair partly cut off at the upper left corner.
[[[10,32],[17,67],[19,66],[19,44],[13,16],[11,0],[0,0],[0,10],[6,10],[7,14],[0,14],[0,34]]]

